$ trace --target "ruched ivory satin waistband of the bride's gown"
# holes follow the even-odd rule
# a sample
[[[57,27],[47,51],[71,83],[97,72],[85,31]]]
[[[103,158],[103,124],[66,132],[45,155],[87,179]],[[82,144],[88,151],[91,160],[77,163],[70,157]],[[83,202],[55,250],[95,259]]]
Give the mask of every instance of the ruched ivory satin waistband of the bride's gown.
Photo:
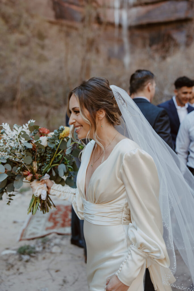
[[[84,219],[98,225],[129,224],[129,209],[120,205],[95,204],[83,200]]]

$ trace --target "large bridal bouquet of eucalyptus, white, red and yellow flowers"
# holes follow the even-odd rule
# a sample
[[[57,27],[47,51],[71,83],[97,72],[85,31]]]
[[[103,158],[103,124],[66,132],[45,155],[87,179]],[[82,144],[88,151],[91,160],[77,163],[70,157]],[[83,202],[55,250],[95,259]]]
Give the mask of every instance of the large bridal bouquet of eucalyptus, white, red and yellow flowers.
[[[47,193],[46,184],[40,179],[50,178],[56,184],[73,186],[78,171],[74,157],[79,156],[81,145],[69,137],[70,128],[60,126],[50,133],[49,129],[29,120],[23,126],[7,123],[0,126],[0,200],[8,194],[13,200],[15,189],[22,187],[23,180],[31,183],[33,196],[28,214],[40,210],[45,213],[55,207]]]

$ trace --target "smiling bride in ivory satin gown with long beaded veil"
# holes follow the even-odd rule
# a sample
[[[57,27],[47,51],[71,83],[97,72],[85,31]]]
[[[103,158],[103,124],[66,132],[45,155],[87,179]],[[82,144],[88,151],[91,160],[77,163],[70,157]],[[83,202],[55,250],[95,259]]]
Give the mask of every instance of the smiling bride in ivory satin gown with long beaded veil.
[[[174,252],[171,252],[174,246],[169,239],[172,231],[168,227],[173,223],[167,226],[166,216],[162,217],[163,195],[168,194],[161,194],[164,184],[158,177],[163,165],[158,166],[155,153],[153,159],[149,149],[145,151],[141,146],[142,136],[147,134],[145,130],[134,124],[135,119],[131,125],[129,120],[126,122],[129,107],[134,105],[126,106],[122,89],[111,88],[108,80],[91,78],[68,96],[69,123],[73,125],[73,132],[79,139],[90,140],[81,155],[76,190],[54,184],[49,179],[42,183],[47,184],[50,194],[70,201],[79,218],[84,219],[89,291],[143,291],[146,267],[149,267],[155,290],[172,290],[170,283],[175,278],[169,266],[174,261],[169,259],[165,242],[169,242],[168,249],[174,259]],[[137,115],[143,118],[138,109],[133,110],[132,118]],[[131,139],[117,130],[122,127],[121,115]],[[146,125],[148,133],[152,131],[144,119],[142,124],[142,127]],[[130,134],[133,130],[137,138]],[[138,130],[143,132],[138,134]],[[153,132],[152,135],[156,138]],[[134,140],[139,140],[140,145]],[[154,140],[150,144],[152,142],[154,144]],[[162,143],[160,138],[159,143]],[[162,147],[168,151],[165,143]],[[171,267],[173,271],[175,266]]]

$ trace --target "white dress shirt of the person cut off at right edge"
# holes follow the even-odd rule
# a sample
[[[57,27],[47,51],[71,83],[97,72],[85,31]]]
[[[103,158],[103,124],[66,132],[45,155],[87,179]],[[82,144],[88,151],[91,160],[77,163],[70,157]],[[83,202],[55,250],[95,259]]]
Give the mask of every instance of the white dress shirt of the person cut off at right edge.
[[[187,114],[179,127],[176,152],[184,164],[194,168],[194,111]]]

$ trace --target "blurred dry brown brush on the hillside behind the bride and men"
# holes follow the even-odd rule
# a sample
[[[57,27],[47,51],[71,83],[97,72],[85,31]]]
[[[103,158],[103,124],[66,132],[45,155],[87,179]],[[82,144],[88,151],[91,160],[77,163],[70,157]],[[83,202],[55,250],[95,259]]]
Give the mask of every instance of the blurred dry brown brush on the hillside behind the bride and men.
[[[138,4],[147,9],[149,3],[144,2],[138,0],[134,9]],[[193,9],[193,1],[188,2]],[[165,23],[129,25],[124,31],[122,23],[115,26],[114,15],[108,12],[106,17],[106,4],[0,1],[0,124],[22,124],[33,118],[50,130],[65,125],[68,92],[93,76],[128,90],[136,69],[151,70],[156,75],[155,104],[172,96],[177,77],[194,78],[192,19],[174,19],[169,26],[167,17]]]

